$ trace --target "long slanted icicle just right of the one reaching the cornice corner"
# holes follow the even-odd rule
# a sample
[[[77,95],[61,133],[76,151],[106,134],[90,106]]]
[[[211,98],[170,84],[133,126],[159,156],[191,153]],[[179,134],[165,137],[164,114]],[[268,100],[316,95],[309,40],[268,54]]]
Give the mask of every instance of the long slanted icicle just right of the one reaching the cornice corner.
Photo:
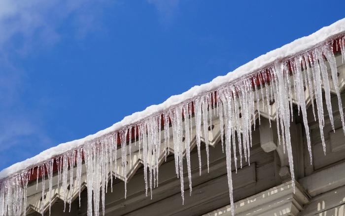
[[[295,57],[295,66],[296,66],[296,96],[298,99],[298,105],[301,107],[302,111],[302,117],[303,117],[303,124],[306,131],[306,137],[307,137],[307,146],[309,151],[309,157],[310,161],[312,163],[312,153],[311,153],[311,138],[309,135],[309,126],[308,126],[308,119],[307,119],[307,108],[306,108],[306,98],[305,98],[305,92],[304,92],[304,86],[303,86],[303,77],[302,77],[302,68],[301,68],[301,61],[302,58]]]

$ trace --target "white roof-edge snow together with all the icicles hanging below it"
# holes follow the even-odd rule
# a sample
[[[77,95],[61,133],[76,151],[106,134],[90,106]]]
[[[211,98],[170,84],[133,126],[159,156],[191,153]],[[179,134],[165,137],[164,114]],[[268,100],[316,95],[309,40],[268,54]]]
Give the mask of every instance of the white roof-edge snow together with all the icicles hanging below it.
[[[88,186],[91,186],[87,188],[88,215],[92,215],[93,212],[95,215],[99,214],[98,204],[100,201],[101,189],[104,212],[104,183],[108,181],[108,175],[105,174],[109,171],[108,163],[111,165],[114,161],[113,154],[115,153],[115,156],[117,154],[116,144],[117,142],[120,142],[122,147],[121,164],[123,164],[121,172],[126,170],[125,158],[127,156],[127,152],[126,148],[124,147],[126,146],[127,135],[129,134],[131,137],[130,134],[132,133],[133,126],[135,126],[134,130],[138,130],[139,146],[140,148],[142,147],[146,194],[148,185],[150,187],[150,191],[152,192],[152,180],[153,187],[156,186],[156,181],[158,184],[158,153],[160,152],[161,147],[160,140],[162,129],[161,118],[165,120],[164,128],[169,127],[169,119],[171,119],[173,127],[175,171],[177,176],[180,176],[181,195],[183,200],[184,189],[182,158],[184,148],[186,148],[187,153],[187,172],[191,189],[190,158],[188,148],[190,142],[189,137],[191,135],[189,131],[191,129],[190,119],[192,119],[192,107],[195,114],[194,119],[196,126],[195,131],[199,165],[201,163],[201,133],[206,136],[205,142],[208,167],[208,121],[211,121],[212,119],[212,112],[214,112],[213,114],[219,116],[221,127],[220,131],[221,133],[225,131],[225,140],[223,140],[223,134],[221,134],[221,138],[222,143],[223,141],[225,142],[228,185],[232,205],[233,189],[231,177],[231,152],[235,153],[233,157],[235,159],[234,165],[236,169],[238,165],[236,160],[236,149],[239,149],[240,166],[242,167],[242,150],[245,161],[249,162],[249,149],[251,147],[252,130],[251,122],[254,118],[255,112],[260,112],[260,108],[256,107],[258,106],[258,103],[256,103],[257,101],[263,100],[264,104],[266,103],[265,107],[268,109],[270,109],[271,101],[275,101],[277,104],[276,127],[278,128],[277,132],[279,133],[278,142],[279,144],[283,145],[284,151],[285,149],[287,151],[291,177],[292,180],[294,180],[293,158],[289,132],[290,120],[293,113],[292,99],[289,97],[289,95],[296,96],[296,101],[294,103],[298,106],[299,111],[301,110],[304,126],[306,128],[307,145],[310,155],[311,143],[309,137],[304,87],[308,89],[311,97],[315,95],[317,116],[319,116],[319,129],[323,148],[325,150],[325,142],[323,138],[323,126],[325,122],[323,118],[324,110],[321,88],[323,88],[325,91],[326,109],[334,130],[332,107],[330,103],[330,79],[328,78],[326,60],[330,65],[332,77],[331,80],[338,97],[339,111],[343,123],[343,129],[345,129],[342,102],[338,88],[337,67],[335,56],[332,50],[334,47],[332,43],[334,39],[337,39],[335,40],[336,43],[338,43],[336,47],[337,49],[339,47],[342,54],[342,59],[345,60],[345,38],[341,37],[343,34],[340,35],[341,33],[344,33],[344,31],[345,19],[340,20],[329,27],[324,27],[308,37],[295,40],[294,42],[285,45],[282,48],[262,55],[239,67],[233,73],[229,73],[224,77],[218,77],[207,84],[195,86],[179,96],[169,98],[161,105],[151,106],[142,112],[134,113],[133,115],[124,118],[121,122],[116,123],[95,135],[90,135],[83,139],[60,144],[57,147],[42,152],[32,159],[14,164],[9,168],[2,170],[0,172],[0,178],[2,177],[5,179],[0,182],[0,214],[20,214],[23,210],[22,208],[26,208],[26,185],[28,176],[31,174],[30,168],[33,166],[38,166],[37,173],[38,170],[43,173],[42,179],[44,179],[45,169],[47,169],[49,194],[51,194],[52,165],[54,163],[54,159],[51,158],[54,156],[57,156],[55,162],[60,164],[58,167],[59,176],[60,174],[62,175],[62,189],[66,191],[68,185],[68,167],[74,166],[74,162],[76,161],[77,170],[79,170],[78,167],[81,167],[80,164],[82,154],[84,154],[87,168],[87,184]],[[290,76],[292,79],[289,78]],[[268,82],[270,82],[270,85],[268,85]],[[322,86],[321,83],[323,83]],[[263,90],[263,85],[265,90]],[[216,95],[214,94],[214,91],[217,92]],[[241,109],[243,107],[245,107],[245,109]],[[213,111],[210,111],[212,108]],[[182,113],[184,119],[182,118]],[[241,117],[239,115],[240,113]],[[260,116],[260,113],[258,114]],[[209,125],[211,125],[211,123]],[[225,126],[224,130],[223,126]],[[241,135],[236,135],[239,134],[238,132],[241,132]],[[164,131],[164,147],[166,147],[166,141],[169,137],[169,134],[167,133],[169,133],[169,130]],[[183,138],[185,138],[184,141]],[[149,173],[147,173],[147,168],[149,168]],[[14,176],[15,174],[20,175]],[[10,176],[14,177],[9,178]],[[77,178],[78,176],[80,176],[80,172],[77,171]],[[72,178],[73,176],[71,172],[70,183]],[[102,185],[101,189],[99,187],[100,185]],[[44,197],[44,193],[45,191],[43,186],[42,197]],[[24,207],[22,206],[23,197]],[[92,209],[92,200],[94,200],[94,209]],[[233,208],[232,214],[234,214]]]

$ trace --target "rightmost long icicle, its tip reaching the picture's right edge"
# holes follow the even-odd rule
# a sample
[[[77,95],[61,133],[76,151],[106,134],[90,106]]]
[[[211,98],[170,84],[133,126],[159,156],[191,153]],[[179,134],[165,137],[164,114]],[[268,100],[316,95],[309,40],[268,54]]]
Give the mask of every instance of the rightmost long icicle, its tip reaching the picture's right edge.
[[[343,132],[345,134],[344,112],[343,112],[342,98],[340,96],[340,90],[339,90],[338,70],[337,70],[336,58],[334,57],[334,54],[330,48],[325,49],[324,54],[328,60],[330,68],[331,68],[332,81],[333,81],[333,85],[334,85],[334,88],[336,90],[336,94],[337,94],[337,98],[338,98],[339,114],[340,114],[340,118],[342,120]]]

